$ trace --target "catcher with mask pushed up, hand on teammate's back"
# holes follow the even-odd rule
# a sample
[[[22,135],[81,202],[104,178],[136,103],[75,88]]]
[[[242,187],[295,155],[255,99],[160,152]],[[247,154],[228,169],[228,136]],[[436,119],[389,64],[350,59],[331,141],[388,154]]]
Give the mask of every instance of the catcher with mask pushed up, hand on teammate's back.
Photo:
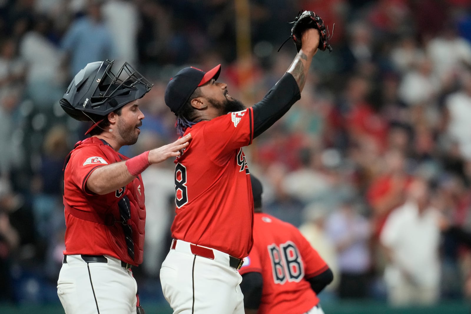
[[[146,207],[140,173],[179,155],[190,136],[128,159],[144,114],[138,99],[151,88],[130,64],[113,61],[78,72],[60,100],[79,121],[92,121],[65,160],[65,251],[57,295],[66,314],[143,314],[131,266],[142,263]]]

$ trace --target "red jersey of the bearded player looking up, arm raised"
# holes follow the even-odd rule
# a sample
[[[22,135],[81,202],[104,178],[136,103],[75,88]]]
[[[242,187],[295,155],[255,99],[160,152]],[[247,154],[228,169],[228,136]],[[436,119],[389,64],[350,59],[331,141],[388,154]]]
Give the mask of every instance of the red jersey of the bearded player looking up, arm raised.
[[[244,258],[252,248],[253,197],[242,147],[252,143],[252,108],[200,121],[175,161],[172,237]]]

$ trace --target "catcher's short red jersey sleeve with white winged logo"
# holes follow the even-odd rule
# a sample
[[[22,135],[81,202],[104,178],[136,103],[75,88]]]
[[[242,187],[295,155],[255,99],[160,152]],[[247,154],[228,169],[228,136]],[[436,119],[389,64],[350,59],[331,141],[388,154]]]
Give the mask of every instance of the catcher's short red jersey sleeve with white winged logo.
[[[106,158],[97,145],[87,145],[74,153],[66,165],[65,173],[68,180],[78,186],[84,193],[94,195],[87,188],[87,180],[93,170],[106,166],[113,161]],[[70,171],[67,168],[70,167]]]

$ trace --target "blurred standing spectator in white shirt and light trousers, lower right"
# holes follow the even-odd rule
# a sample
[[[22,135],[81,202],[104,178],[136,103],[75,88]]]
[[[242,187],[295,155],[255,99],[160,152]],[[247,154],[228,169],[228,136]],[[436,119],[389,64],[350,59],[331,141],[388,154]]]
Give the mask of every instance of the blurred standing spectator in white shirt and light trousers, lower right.
[[[424,179],[414,178],[407,201],[390,214],[381,233],[388,258],[384,279],[393,306],[432,305],[439,298],[439,216],[430,206],[430,193]]]

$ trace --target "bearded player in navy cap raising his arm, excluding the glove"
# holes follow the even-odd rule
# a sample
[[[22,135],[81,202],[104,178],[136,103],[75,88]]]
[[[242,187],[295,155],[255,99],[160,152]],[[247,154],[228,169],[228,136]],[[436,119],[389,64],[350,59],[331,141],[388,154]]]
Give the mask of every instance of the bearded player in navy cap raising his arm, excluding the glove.
[[[208,72],[187,67],[168,83],[165,103],[191,144],[175,161],[174,240],[160,272],[174,313],[243,314],[237,269],[252,249],[253,197],[243,146],[250,145],[300,99],[317,29],[302,33],[302,48],[284,76],[257,104],[245,108]]]

